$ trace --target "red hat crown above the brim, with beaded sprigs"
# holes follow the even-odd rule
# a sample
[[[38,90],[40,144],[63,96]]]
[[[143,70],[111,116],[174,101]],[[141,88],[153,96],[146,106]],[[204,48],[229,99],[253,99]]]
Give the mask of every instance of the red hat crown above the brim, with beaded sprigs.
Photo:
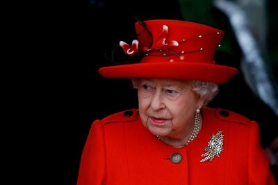
[[[194,22],[156,19],[147,20],[144,24],[145,26],[136,22],[135,25],[139,45],[149,49],[147,56],[142,58],[142,63],[151,61],[214,63],[215,49],[224,37],[223,31]],[[152,57],[164,59],[148,60]]]

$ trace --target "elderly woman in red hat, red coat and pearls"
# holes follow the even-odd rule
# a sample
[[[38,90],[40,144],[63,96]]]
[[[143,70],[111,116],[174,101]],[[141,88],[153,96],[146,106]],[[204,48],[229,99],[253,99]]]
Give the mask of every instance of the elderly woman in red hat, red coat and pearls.
[[[213,61],[224,33],[165,19],[136,32],[120,42],[129,62],[99,72],[131,79],[138,109],[92,123],[77,184],[275,184],[258,124],[206,106],[237,72]]]

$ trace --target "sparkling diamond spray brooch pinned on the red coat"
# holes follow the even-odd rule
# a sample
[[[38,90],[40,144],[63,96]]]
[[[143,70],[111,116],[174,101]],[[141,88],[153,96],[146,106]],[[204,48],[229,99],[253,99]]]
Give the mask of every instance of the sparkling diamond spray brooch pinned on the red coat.
[[[218,131],[211,136],[211,140],[208,141],[208,146],[204,148],[205,153],[201,156],[204,157],[200,162],[212,161],[215,156],[218,156],[223,152],[223,137],[222,131]]]

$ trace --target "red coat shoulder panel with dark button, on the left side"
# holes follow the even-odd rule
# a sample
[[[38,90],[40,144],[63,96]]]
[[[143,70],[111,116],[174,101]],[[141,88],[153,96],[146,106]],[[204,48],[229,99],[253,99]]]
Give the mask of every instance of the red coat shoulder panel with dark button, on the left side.
[[[120,111],[118,113],[108,115],[106,118],[103,118],[101,122],[102,124],[110,124],[113,122],[131,122],[136,120],[137,117],[138,117],[138,110],[136,108],[133,108],[126,111]]]

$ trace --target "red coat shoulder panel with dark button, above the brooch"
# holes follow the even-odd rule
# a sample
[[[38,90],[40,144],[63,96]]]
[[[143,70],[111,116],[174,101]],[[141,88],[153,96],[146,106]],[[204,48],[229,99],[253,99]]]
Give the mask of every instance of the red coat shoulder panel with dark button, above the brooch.
[[[218,120],[224,121],[224,122],[234,122],[238,124],[243,125],[249,125],[251,120],[246,118],[244,115],[240,115],[239,113],[236,113],[234,111],[229,111],[223,108],[209,108],[210,111],[214,111],[215,117]]]

